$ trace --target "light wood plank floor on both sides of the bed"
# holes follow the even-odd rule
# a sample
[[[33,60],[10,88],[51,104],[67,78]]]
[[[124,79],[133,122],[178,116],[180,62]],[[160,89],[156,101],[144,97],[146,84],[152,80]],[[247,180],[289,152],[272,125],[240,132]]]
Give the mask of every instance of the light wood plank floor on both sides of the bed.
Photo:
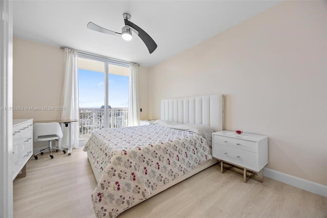
[[[95,217],[96,186],[86,153],[32,158],[14,180],[14,217]],[[327,198],[264,178],[264,183],[214,165],[123,212],[123,217],[327,217]]]

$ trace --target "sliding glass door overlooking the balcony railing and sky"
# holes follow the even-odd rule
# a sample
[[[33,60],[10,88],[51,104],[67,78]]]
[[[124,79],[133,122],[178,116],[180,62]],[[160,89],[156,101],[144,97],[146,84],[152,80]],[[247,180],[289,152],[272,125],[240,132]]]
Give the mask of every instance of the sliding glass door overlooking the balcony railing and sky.
[[[129,68],[83,56],[78,68],[80,137],[97,129],[127,126]]]

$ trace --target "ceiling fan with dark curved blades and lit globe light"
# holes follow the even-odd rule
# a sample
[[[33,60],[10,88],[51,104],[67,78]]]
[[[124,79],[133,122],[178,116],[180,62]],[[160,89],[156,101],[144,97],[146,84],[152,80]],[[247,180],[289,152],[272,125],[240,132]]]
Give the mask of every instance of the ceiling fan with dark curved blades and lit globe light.
[[[131,33],[131,30],[132,30],[134,33],[136,33],[136,35],[138,35],[143,40],[143,42],[147,46],[150,54],[152,52],[154,52],[154,50],[157,48],[157,44],[151,38],[151,36],[149,36],[149,34],[146,33],[144,30],[142,30],[140,27],[136,26],[131,21],[129,21],[129,19],[131,18],[130,14],[124,13],[123,17],[124,17],[124,21],[125,21],[125,26],[122,28],[122,33],[107,30],[107,29],[100,27],[92,22],[89,22],[87,24],[87,28],[90,30],[95,30],[95,31],[101,32],[101,33],[122,36],[123,39],[125,39],[127,41],[132,39],[132,33]]]

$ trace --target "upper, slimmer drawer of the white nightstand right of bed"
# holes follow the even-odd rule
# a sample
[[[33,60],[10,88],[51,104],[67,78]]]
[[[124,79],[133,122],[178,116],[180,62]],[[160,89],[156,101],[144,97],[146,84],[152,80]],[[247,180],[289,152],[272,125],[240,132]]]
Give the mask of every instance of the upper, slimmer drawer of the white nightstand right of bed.
[[[239,148],[242,150],[258,152],[258,144],[256,142],[229,138],[224,136],[217,136],[217,135],[214,135],[214,142],[229,147]]]

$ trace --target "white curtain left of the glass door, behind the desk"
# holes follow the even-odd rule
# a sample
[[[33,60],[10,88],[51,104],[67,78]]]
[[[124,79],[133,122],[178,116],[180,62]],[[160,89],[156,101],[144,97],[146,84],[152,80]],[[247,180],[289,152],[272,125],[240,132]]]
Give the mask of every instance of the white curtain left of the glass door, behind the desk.
[[[65,77],[62,89],[61,106],[65,110],[60,111],[58,120],[79,120],[79,106],[78,106],[78,67],[77,58],[78,52],[73,49],[65,48],[66,66]],[[79,122],[72,122],[72,148],[79,147]],[[62,124],[63,138],[61,139],[61,146],[68,147],[69,126],[65,127]]]

